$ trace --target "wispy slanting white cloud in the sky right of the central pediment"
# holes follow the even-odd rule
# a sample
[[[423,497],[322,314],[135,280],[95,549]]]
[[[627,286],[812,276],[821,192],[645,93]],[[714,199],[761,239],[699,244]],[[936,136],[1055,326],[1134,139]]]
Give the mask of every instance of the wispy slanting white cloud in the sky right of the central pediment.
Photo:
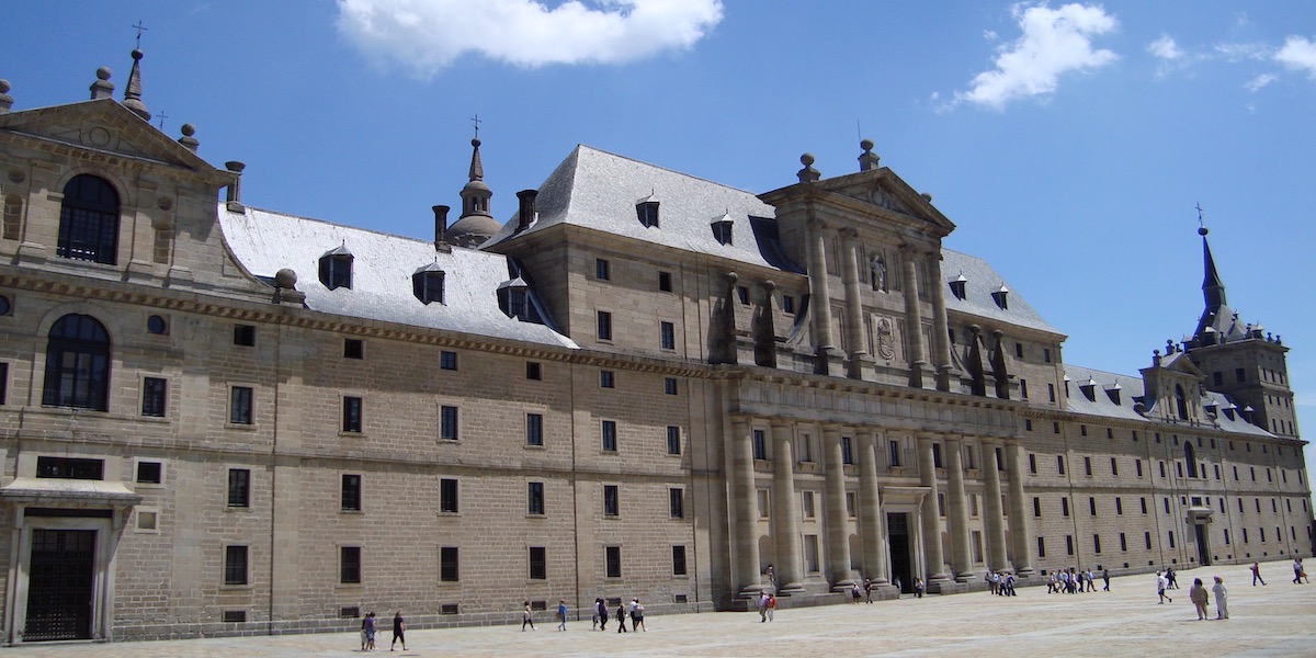
[[[1115,17],[1100,5],[1015,5],[1012,12],[1024,34],[999,49],[996,68],[974,76],[969,91],[955,93],[957,103],[1000,109],[1015,99],[1054,92],[1062,74],[1116,59],[1109,50],[1092,50],[1091,37],[1116,28]]]

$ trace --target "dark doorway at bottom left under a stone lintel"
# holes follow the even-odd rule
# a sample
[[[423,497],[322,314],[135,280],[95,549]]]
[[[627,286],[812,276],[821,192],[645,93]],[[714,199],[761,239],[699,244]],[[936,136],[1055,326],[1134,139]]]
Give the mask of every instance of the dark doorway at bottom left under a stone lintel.
[[[32,530],[25,642],[91,640],[96,530]]]

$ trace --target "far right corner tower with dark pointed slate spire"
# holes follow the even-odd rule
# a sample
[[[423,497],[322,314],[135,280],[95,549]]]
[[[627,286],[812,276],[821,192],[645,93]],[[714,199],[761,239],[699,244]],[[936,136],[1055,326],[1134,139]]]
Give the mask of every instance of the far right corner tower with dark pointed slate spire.
[[[1288,347],[1259,324],[1242,324],[1229,308],[1207,233],[1205,226],[1198,229],[1205,268],[1202,282],[1205,308],[1196,332],[1184,341],[1184,350],[1205,376],[1205,388],[1233,397],[1244,407],[1244,417],[1271,434],[1298,438],[1294,392],[1288,388]]]

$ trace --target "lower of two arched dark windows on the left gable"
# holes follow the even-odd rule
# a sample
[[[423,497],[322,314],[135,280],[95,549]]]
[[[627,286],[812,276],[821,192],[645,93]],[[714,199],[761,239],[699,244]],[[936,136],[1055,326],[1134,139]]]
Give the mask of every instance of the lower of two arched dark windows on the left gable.
[[[109,333],[95,317],[67,315],[50,328],[41,404],[109,411]]]

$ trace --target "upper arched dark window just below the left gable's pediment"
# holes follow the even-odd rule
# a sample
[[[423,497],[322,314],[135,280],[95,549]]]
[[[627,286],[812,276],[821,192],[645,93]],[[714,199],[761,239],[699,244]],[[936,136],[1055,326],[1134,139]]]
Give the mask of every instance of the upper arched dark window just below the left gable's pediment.
[[[64,186],[55,254],[114,265],[118,250],[118,192],[101,178],[74,176]]]

